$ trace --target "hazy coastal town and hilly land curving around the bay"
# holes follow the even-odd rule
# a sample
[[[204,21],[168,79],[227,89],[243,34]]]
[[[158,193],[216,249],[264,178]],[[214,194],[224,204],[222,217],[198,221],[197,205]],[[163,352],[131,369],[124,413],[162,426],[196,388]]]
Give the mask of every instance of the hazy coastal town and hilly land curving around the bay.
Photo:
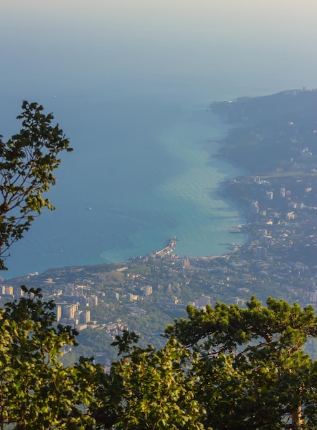
[[[232,243],[221,256],[178,256],[178,239],[171,238],[163,249],[126,262],[2,281],[1,304],[25,295],[21,285],[40,288],[45,300],[54,300],[58,324],[76,328],[80,343],[104,365],[122,330],[161,345],[165,326],[185,316],[189,304],[243,306],[256,295],[262,302],[270,296],[317,306],[316,102],[317,90],[302,89],[211,104],[232,125],[218,156],[246,171],[219,187],[245,216],[231,228]],[[235,245],[237,235],[243,245]]]

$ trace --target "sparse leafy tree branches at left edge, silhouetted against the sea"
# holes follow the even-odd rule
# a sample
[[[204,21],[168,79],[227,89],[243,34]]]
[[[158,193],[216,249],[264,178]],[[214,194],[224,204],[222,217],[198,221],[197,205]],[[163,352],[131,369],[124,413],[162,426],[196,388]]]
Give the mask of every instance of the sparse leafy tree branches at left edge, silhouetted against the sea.
[[[34,216],[43,207],[54,209],[43,193],[56,183],[53,171],[60,164],[60,152],[72,150],[43,106],[24,101],[22,109],[17,117],[22,120],[21,131],[8,142],[0,136],[0,270],[7,269],[8,249],[23,237]]]

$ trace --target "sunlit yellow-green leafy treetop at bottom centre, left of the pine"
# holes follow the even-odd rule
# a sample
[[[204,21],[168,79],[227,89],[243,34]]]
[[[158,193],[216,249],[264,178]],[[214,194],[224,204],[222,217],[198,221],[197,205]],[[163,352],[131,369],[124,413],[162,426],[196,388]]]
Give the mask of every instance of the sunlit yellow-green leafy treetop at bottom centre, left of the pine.
[[[99,409],[93,412],[103,429],[202,430],[204,409],[195,396],[191,374],[198,354],[169,339],[164,348],[131,346],[133,333],[124,332],[113,345],[121,358],[114,361],[99,386]]]

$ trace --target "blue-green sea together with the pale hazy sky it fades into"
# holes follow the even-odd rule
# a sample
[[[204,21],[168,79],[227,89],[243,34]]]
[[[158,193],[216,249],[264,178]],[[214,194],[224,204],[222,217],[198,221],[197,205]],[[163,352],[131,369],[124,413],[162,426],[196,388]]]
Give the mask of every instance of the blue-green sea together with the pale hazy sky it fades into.
[[[180,238],[222,253],[243,222],[216,190],[243,174],[211,157],[226,125],[211,100],[316,87],[315,1],[1,0],[0,133],[22,100],[53,112],[62,155],[55,212],[11,249],[5,277],[126,260]]]

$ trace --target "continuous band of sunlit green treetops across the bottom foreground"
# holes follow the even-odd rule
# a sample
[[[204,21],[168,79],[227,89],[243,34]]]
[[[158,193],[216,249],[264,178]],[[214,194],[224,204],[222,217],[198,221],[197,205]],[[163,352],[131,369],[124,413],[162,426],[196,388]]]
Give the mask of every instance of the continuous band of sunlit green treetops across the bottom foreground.
[[[76,332],[56,326],[40,291],[0,313],[0,428],[309,429],[317,365],[303,346],[316,316],[283,300],[216,304],[167,327],[163,348],[123,332],[109,372],[93,359],[63,366]],[[33,297],[32,297],[33,296]]]

